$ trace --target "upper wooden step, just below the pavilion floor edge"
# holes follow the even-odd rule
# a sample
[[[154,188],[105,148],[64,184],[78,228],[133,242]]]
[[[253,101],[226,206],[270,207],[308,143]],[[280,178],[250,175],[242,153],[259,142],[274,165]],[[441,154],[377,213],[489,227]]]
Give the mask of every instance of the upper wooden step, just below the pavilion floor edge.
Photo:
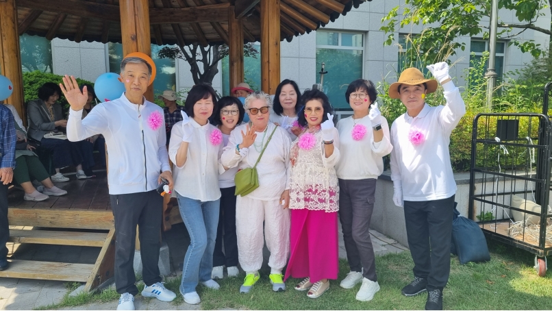
[[[108,233],[10,229],[9,242],[102,247]]]

